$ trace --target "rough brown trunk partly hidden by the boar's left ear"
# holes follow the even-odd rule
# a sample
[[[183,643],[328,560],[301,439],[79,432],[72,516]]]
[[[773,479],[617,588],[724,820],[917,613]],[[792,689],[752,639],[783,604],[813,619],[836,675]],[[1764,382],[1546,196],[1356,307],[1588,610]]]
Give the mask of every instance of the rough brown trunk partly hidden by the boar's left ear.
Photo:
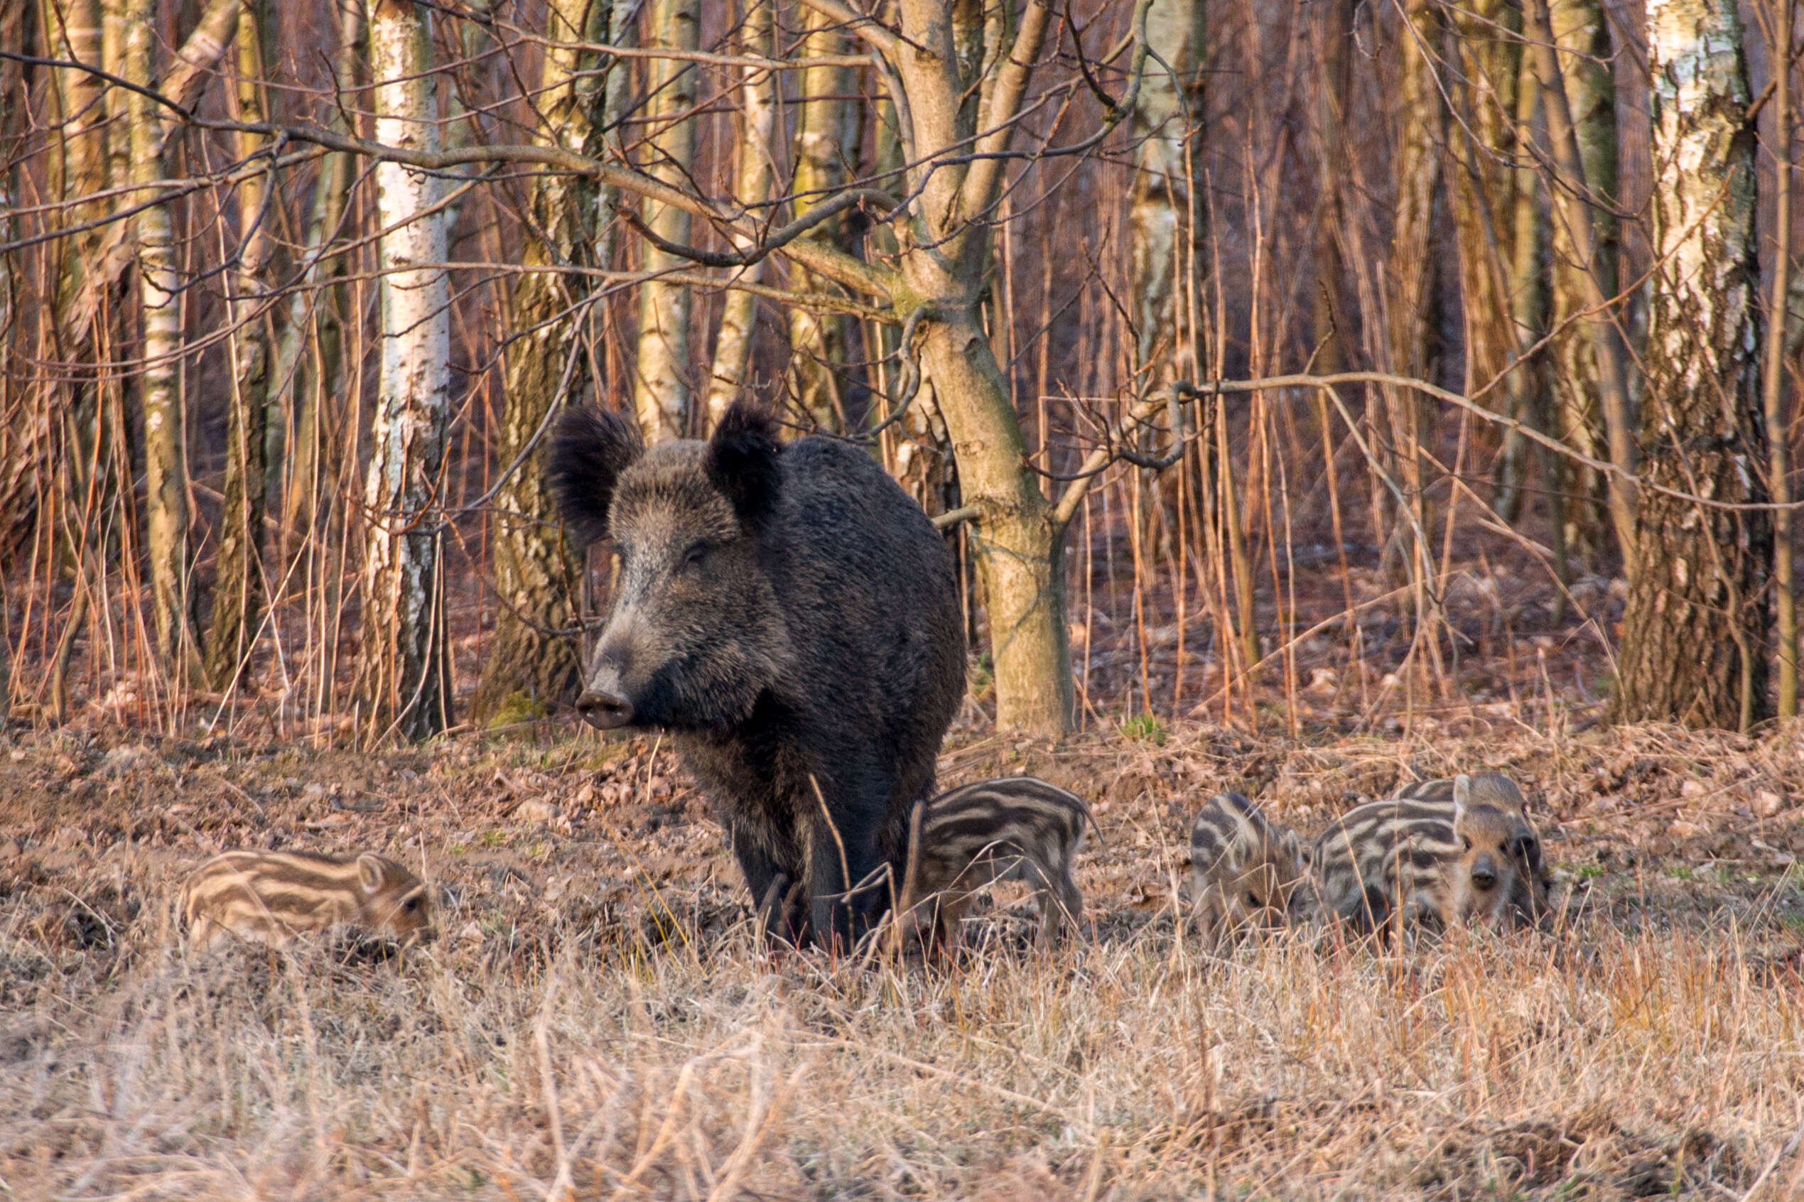
[[[608,5],[590,0],[554,0],[548,20],[552,38],[563,43],[604,43],[613,32],[608,29]],[[579,153],[599,150],[604,88],[594,56],[547,49],[539,96],[547,106],[541,134],[547,144]],[[541,175],[532,191],[532,229],[541,236],[529,238],[525,265],[604,267],[595,262],[595,215],[594,180]],[[494,498],[494,596],[500,608],[471,704],[474,722],[543,715],[550,706],[568,702],[579,684],[575,643],[561,632],[575,624],[572,599],[579,590],[583,561],[565,545],[556,523],[541,430],[559,399],[581,395],[588,383],[583,325],[592,319],[592,310],[581,303],[588,291],[588,276],[575,273],[527,271],[514,285],[512,319],[523,336],[507,348],[502,422],[494,435],[496,458],[512,475]],[[601,381],[592,383],[599,392]],[[521,455],[525,460],[516,464]]]

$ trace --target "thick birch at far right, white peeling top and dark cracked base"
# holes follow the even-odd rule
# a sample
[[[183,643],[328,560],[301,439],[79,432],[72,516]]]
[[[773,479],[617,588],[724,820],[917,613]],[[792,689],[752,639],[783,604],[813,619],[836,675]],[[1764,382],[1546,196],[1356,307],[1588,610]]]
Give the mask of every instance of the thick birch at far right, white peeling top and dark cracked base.
[[[1766,500],[1755,370],[1753,137],[1734,0],[1651,0],[1652,215],[1642,478]],[[1616,717],[1746,729],[1768,717],[1770,511],[1642,487]]]

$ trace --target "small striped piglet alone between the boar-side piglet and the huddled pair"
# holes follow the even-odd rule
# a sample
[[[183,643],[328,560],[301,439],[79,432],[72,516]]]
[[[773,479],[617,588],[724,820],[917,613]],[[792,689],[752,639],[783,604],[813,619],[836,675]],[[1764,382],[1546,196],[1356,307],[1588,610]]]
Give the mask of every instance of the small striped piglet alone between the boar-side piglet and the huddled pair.
[[[1238,792],[1218,792],[1191,827],[1196,920],[1212,940],[1284,924],[1302,845]]]

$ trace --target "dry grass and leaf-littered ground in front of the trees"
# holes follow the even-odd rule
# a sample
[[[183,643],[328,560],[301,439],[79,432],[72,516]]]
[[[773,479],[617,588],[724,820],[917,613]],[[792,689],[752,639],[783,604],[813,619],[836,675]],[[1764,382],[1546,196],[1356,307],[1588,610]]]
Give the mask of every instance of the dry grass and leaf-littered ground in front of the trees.
[[[1804,727],[1203,724],[954,736],[942,783],[1097,803],[1095,940],[1001,892],[951,971],[772,958],[667,749],[0,742],[0,1193],[16,1198],[1804,1197]],[[1189,816],[1313,832],[1501,767],[1557,929],[1393,953],[1178,933]],[[440,938],[186,955],[235,846],[382,850]],[[1003,886],[1012,890],[1014,886]]]

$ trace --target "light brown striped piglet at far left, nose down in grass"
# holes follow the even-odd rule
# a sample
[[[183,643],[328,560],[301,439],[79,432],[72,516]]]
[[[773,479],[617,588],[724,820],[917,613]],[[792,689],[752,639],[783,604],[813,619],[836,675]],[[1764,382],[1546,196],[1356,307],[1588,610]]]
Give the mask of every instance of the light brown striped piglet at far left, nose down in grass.
[[[404,942],[431,937],[426,886],[372,852],[226,852],[182,883],[180,908],[195,948],[229,935],[280,948],[301,931],[341,924]]]

